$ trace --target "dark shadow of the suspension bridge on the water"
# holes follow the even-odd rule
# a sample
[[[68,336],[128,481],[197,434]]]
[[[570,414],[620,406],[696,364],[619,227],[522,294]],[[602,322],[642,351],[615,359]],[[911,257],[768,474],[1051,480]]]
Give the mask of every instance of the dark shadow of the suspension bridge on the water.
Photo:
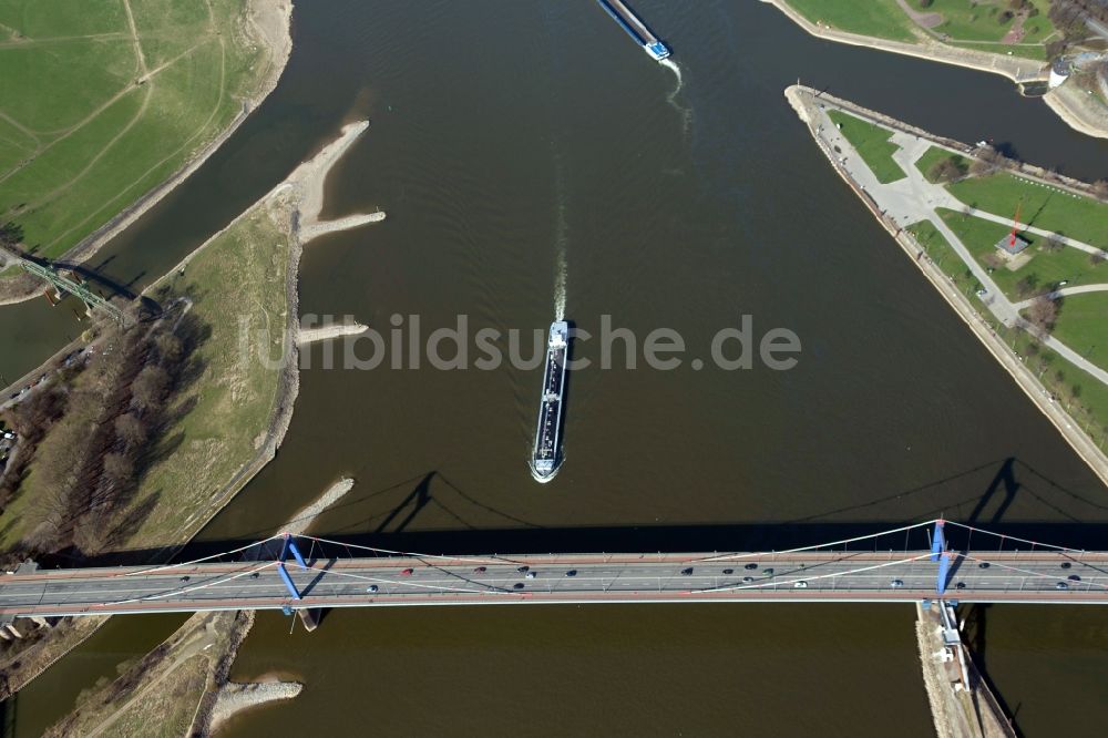
[[[995,470],[995,471],[994,471]],[[989,473],[992,472],[992,473]],[[982,479],[988,479],[984,489]],[[976,491],[954,498],[942,495],[938,504],[932,499],[936,489],[948,488],[966,479],[976,479]],[[367,501],[384,499],[384,495],[403,494],[383,511],[380,509],[358,516]],[[440,490],[435,493],[434,490]],[[447,500],[447,496],[452,498]],[[957,474],[946,476],[914,489],[873,498],[853,505],[825,510],[812,515],[788,521],[756,521],[738,523],[680,523],[671,525],[594,525],[551,526],[540,525],[516,515],[502,512],[481,501],[480,496],[466,492],[437,471],[420,474],[407,482],[380,490],[351,493],[352,500],[343,500],[328,509],[327,514],[350,517],[338,524],[339,530],[316,532],[342,544],[372,546],[392,551],[429,554],[510,554],[510,553],[655,553],[655,552],[733,552],[733,551],[783,551],[800,546],[811,546],[832,541],[843,541],[901,529],[913,522],[945,516],[955,522],[987,529],[994,533],[1015,536],[1047,544],[1073,549],[1108,549],[1108,500],[1089,499],[1068,490],[1034,468],[1014,458],[981,464]],[[1036,503],[1036,509],[1049,511],[1058,520],[1027,522],[1006,520],[1018,500]],[[484,517],[490,514],[503,520],[501,526],[478,526],[466,521],[459,512],[464,504],[479,511]],[[412,530],[412,524],[423,511],[437,508],[456,521],[459,527],[451,530]],[[865,515],[872,510],[889,506],[902,509],[906,519],[878,517],[872,520],[849,520],[851,515]],[[1094,519],[1092,522],[1085,520]],[[254,541],[278,533],[280,527],[259,527],[245,531],[240,536],[189,543],[173,557],[189,561],[202,556],[240,549]],[[852,551],[903,551],[925,550],[930,546],[930,531],[915,529],[910,533],[901,531],[848,545]],[[947,531],[947,541],[953,551],[997,550],[999,539],[972,533],[962,529]],[[1010,540],[1003,544],[1005,550],[1020,547]],[[1023,549],[1027,549],[1023,545]],[[82,561],[81,565],[148,564],[165,561],[165,549],[138,549],[119,551]],[[258,556],[255,558],[264,558]],[[72,566],[70,557],[44,560],[45,566]]]

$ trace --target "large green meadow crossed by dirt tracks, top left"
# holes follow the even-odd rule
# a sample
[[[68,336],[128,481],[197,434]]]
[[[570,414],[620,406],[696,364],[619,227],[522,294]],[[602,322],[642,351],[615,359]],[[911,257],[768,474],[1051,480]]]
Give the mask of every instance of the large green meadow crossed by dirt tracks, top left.
[[[0,0],[0,221],[59,256],[215,139],[265,72],[244,8]]]

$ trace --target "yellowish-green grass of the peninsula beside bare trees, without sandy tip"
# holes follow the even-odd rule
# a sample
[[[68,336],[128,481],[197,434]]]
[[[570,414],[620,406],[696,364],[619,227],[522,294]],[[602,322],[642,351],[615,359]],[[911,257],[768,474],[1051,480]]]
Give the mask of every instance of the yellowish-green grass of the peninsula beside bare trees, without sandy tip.
[[[164,455],[143,476],[134,506],[156,495],[153,512],[144,521],[132,545],[162,545],[181,536],[181,526],[194,512],[211,503],[234,474],[257,452],[274,409],[279,369],[258,360],[280,353],[288,309],[285,275],[288,238],[265,206],[244,216],[219,235],[185,267],[185,274],[160,285],[156,297],[193,300],[191,314],[211,335],[196,358],[202,375],[175,398],[175,407],[187,409],[164,434],[172,453]],[[239,352],[240,325],[250,334],[254,352],[244,360]]]

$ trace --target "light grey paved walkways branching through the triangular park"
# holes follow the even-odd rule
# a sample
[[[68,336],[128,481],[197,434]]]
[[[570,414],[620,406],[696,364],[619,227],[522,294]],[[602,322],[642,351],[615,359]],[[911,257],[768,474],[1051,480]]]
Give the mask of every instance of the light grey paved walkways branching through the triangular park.
[[[915,162],[933,145],[932,142],[910,133],[904,133],[903,131],[888,129],[892,133],[890,141],[900,147],[893,153],[893,161],[904,171],[905,176],[903,180],[882,184],[858,154],[853,145],[842,135],[831,119],[828,117],[828,104],[821,103],[817,112],[819,115],[819,120],[815,121],[817,132],[831,146],[831,151],[835,152],[839,163],[847,171],[847,174],[862,187],[862,191],[870,196],[878,208],[892,218],[900,227],[906,227],[921,221],[926,221],[935,226],[938,233],[951,245],[951,248],[954,249],[954,253],[958,255],[958,258],[965,263],[966,268],[970,269],[974,278],[985,289],[981,301],[988,308],[988,311],[1005,326],[1028,329],[1030,326],[1019,316],[1019,311],[1029,305],[1029,300],[1015,304],[1009,300],[1004,291],[997,287],[992,276],[989,276],[988,270],[974,258],[970,249],[962,243],[962,239],[951,230],[946,222],[935,212],[940,207],[960,212],[967,212],[967,208],[964,203],[951,195],[945,187],[929,182],[915,166]],[[845,112],[854,115],[853,111]],[[878,123],[878,125],[881,124]],[[882,125],[881,127],[888,126]],[[968,213],[975,217],[994,223],[1012,224],[1012,221],[1008,218],[976,208],[968,208]],[[1055,236],[1053,232],[1043,230],[1042,228],[1025,226],[1025,229],[1039,236]],[[1102,253],[1101,249],[1095,246],[1073,238],[1061,236],[1058,236],[1058,238],[1068,247],[1078,248],[1090,254]],[[1097,291],[1101,289],[1108,290],[1108,285],[1085,285],[1083,287],[1070,288],[1073,291],[1067,289],[1058,290],[1057,294],[1077,294],[1078,290]],[[1074,366],[1108,385],[1108,371],[1092,363],[1058,339],[1047,337],[1044,339],[1044,344]]]

